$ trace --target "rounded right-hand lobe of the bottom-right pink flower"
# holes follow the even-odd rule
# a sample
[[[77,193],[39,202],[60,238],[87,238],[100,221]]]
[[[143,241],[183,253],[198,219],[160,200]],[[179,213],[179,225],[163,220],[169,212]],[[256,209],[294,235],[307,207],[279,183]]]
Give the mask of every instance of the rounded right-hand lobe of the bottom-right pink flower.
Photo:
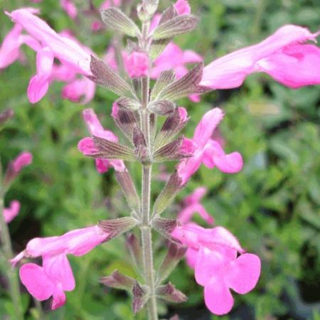
[[[228,286],[239,294],[250,292],[257,284],[261,262],[257,255],[245,253],[231,262],[227,276]]]

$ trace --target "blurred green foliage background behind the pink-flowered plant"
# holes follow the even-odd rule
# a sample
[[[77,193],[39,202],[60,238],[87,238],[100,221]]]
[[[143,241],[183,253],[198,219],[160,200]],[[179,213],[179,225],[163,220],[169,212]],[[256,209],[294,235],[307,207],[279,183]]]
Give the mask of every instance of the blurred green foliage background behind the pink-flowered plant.
[[[93,1],[97,6],[102,1]],[[232,50],[261,41],[285,23],[307,26],[315,32],[320,25],[320,2],[312,0],[191,0],[193,13],[201,16],[198,29],[176,38],[181,48],[196,50],[206,63]],[[75,1],[80,12],[87,1]],[[161,7],[170,1],[161,0]],[[0,1],[0,39],[13,24],[4,9],[37,6],[56,31],[70,29],[86,46],[99,55],[110,43],[110,33],[92,34],[91,19],[80,14],[72,21],[59,1]],[[94,161],[77,149],[87,136],[81,112],[92,107],[102,124],[114,129],[110,112],[115,95],[97,88],[95,100],[79,105],[60,99],[62,83],[50,86],[46,97],[31,105],[26,96],[28,80],[35,73],[35,53],[24,47],[26,63],[14,63],[0,72],[0,110],[8,107],[15,117],[3,129],[0,140],[4,167],[20,151],[33,154],[33,164],[23,169],[6,196],[21,201],[21,212],[10,223],[16,252],[37,236],[59,235],[74,228],[94,224],[98,219],[127,215],[129,210],[117,186],[114,172],[100,175]],[[228,316],[211,316],[203,304],[203,288],[193,279],[184,262],[171,275],[171,282],[188,295],[180,306],[160,305],[162,317],[175,313],[181,319],[320,319],[320,144],[319,87],[290,90],[267,75],[251,75],[237,90],[210,93],[187,108],[193,129],[204,112],[220,106],[225,119],[220,132],[226,151],[240,151],[245,166],[239,174],[226,175],[204,166],[188,183],[166,214],[174,217],[178,204],[198,186],[206,186],[203,200],[217,225],[232,231],[249,252],[262,259],[262,275],[255,290],[244,296],[235,294],[235,307]],[[119,135],[117,129],[114,129]],[[173,169],[174,164],[169,166]],[[132,166],[139,183],[139,166]],[[156,176],[156,173],[155,173]],[[153,194],[162,182],[155,181]],[[162,245],[161,238],[157,245]],[[156,262],[161,254],[156,255]],[[45,319],[115,320],[145,319],[132,316],[130,297],[98,283],[101,276],[118,269],[134,275],[129,255],[124,255],[124,238],[97,247],[84,257],[70,257],[77,286],[67,293],[67,304],[50,311],[43,303]],[[26,319],[40,319],[33,300],[23,290]],[[0,319],[10,318],[14,305],[0,277]]]

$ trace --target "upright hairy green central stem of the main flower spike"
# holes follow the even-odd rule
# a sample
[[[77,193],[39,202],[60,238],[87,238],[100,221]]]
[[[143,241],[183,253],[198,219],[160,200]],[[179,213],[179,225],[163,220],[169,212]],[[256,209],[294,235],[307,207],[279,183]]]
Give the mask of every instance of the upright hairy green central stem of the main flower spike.
[[[146,49],[146,38],[148,36],[149,23],[143,23],[142,26],[142,47]],[[146,144],[151,153],[151,139],[150,139],[150,117],[146,108],[149,102],[149,75],[142,78],[142,110],[141,110],[141,123],[142,132],[146,139]],[[148,302],[148,315],[149,320],[158,320],[158,311],[156,306],[155,294],[155,274],[154,274],[154,257],[152,250],[152,233],[150,227],[150,201],[151,201],[151,174],[152,165],[142,164],[142,257],[144,262],[144,280],[146,285],[149,286],[151,297]]]

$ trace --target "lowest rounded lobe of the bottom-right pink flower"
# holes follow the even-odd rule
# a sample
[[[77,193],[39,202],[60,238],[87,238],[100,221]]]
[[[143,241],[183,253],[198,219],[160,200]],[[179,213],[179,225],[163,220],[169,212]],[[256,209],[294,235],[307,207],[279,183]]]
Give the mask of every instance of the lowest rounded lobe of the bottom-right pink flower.
[[[204,289],[205,303],[208,309],[221,316],[233,308],[233,296],[223,279],[211,279]]]

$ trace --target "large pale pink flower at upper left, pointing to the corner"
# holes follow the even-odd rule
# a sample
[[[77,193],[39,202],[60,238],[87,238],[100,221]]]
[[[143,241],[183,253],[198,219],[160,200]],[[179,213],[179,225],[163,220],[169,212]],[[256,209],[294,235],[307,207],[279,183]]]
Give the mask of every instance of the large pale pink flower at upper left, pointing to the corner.
[[[68,31],[61,34],[56,33],[48,24],[34,15],[34,11],[29,9],[18,9],[8,14],[18,26],[24,28],[30,36],[21,36],[21,43],[26,43],[36,50],[37,73],[31,78],[28,86],[28,98],[31,103],[36,103],[42,99],[52,80],[55,80],[56,68],[53,65],[53,59],[58,58],[65,66],[63,75],[70,81],[76,80],[77,73],[81,75],[91,75],[90,55],[92,51],[81,43],[78,43]],[[31,38],[32,37],[32,38]],[[41,43],[41,44],[40,44]],[[59,80],[64,80],[62,74]],[[77,97],[80,100],[81,95],[85,95],[85,102],[92,99],[95,85],[89,83],[90,80],[76,81],[70,87],[65,89],[65,97],[71,96],[70,91],[77,89]],[[75,100],[75,94],[72,97]]]

